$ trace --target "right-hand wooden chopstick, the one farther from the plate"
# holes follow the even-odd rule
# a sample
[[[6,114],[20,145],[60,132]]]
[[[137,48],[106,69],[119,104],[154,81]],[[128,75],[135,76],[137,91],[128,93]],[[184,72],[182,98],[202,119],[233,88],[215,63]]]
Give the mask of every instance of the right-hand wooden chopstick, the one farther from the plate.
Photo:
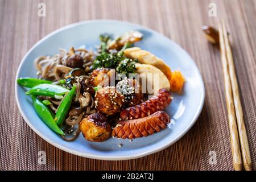
[[[233,92],[234,108],[236,110],[237,127],[238,127],[238,134],[240,137],[243,167],[245,168],[246,171],[250,171],[252,170],[253,167],[251,164],[251,156],[250,156],[250,150],[249,150],[249,143],[246,135],[245,122],[243,121],[243,111],[242,111],[240,94],[239,94],[239,89],[237,84],[236,71],[234,67],[234,60],[233,60],[232,50],[230,48],[228,33],[226,31],[226,25],[224,20],[221,20],[221,24],[223,28],[222,33],[223,33],[224,43],[225,43],[225,53],[226,53],[226,59],[228,60],[229,76],[230,76],[232,92]]]

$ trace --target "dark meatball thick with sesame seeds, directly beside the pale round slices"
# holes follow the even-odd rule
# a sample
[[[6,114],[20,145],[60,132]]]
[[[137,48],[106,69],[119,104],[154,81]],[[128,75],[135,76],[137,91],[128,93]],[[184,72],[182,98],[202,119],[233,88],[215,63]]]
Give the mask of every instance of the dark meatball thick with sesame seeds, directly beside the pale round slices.
[[[143,102],[144,94],[137,80],[126,78],[117,83],[117,90],[125,96],[125,106],[131,107]]]

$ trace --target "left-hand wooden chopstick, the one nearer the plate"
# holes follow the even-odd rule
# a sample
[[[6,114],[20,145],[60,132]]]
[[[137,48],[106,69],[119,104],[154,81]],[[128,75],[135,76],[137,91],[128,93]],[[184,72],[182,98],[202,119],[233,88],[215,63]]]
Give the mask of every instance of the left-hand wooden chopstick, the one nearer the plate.
[[[225,95],[226,95],[226,106],[228,107],[228,118],[229,118],[229,133],[232,148],[233,166],[236,171],[242,170],[242,159],[240,152],[240,142],[237,133],[237,122],[236,122],[236,112],[234,109],[234,102],[232,96],[232,87],[229,76],[228,60],[226,57],[226,46],[224,41],[224,32],[222,24],[218,27],[219,37],[220,37],[220,51],[221,51],[221,62],[222,70],[224,74],[224,85],[225,85]]]

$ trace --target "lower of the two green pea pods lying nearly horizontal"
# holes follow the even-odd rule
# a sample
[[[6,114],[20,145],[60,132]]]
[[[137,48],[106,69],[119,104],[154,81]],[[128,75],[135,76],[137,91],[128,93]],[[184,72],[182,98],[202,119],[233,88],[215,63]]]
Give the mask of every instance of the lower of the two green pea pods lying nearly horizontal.
[[[49,96],[61,99],[63,98],[63,95],[67,92],[69,92],[69,89],[66,89],[60,85],[40,84],[32,87],[30,90],[26,92],[26,94],[31,94],[34,96]]]

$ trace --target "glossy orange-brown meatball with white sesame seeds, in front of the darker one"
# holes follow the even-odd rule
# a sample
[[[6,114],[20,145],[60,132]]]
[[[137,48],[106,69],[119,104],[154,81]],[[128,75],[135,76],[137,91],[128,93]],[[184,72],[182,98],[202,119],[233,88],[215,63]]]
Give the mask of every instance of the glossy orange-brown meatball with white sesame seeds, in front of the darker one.
[[[99,89],[95,94],[95,109],[107,115],[114,115],[122,110],[125,96],[115,90],[114,86]]]

